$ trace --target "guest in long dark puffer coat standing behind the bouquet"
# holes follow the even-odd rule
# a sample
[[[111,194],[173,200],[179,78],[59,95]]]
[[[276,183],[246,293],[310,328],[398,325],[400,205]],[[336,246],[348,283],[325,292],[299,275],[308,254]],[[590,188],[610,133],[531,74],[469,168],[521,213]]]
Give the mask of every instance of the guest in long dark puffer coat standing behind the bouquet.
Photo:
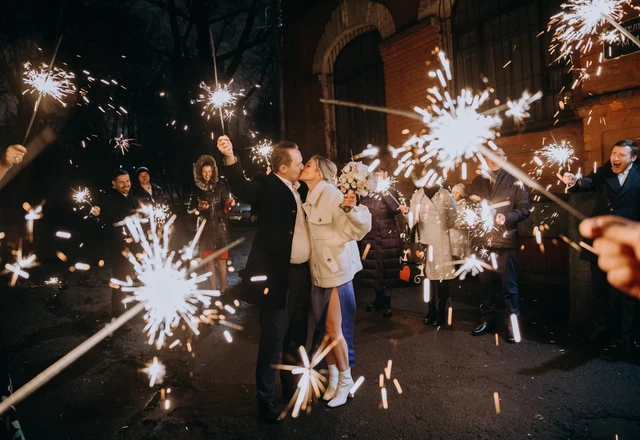
[[[386,171],[378,171],[378,177],[388,178]],[[359,242],[363,270],[360,285],[372,288],[375,300],[367,306],[367,312],[382,310],[383,318],[391,318],[391,289],[400,281],[400,255],[402,241],[396,223],[396,215],[405,206],[398,202],[398,193],[388,188],[382,193],[369,194],[360,203],[371,213],[371,231]]]

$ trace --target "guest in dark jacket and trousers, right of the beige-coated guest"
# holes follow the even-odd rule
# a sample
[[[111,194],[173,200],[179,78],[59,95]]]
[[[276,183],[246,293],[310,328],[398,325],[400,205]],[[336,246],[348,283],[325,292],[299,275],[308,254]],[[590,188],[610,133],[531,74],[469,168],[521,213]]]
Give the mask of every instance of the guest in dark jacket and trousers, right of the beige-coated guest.
[[[506,159],[504,151],[498,148],[496,154]],[[480,306],[482,322],[471,333],[480,336],[492,331],[496,325],[496,290],[500,289],[507,317],[507,342],[515,342],[509,316],[520,316],[520,298],[516,275],[516,252],[518,249],[518,223],[529,218],[529,192],[527,188],[499,164],[487,159],[490,177],[478,176],[471,182],[470,199],[487,200],[496,208],[495,227],[486,234],[473,234],[472,245],[476,251],[486,249],[494,253],[498,263],[500,279],[485,270],[478,275],[482,286],[483,301]],[[500,287],[498,287],[500,286]]]

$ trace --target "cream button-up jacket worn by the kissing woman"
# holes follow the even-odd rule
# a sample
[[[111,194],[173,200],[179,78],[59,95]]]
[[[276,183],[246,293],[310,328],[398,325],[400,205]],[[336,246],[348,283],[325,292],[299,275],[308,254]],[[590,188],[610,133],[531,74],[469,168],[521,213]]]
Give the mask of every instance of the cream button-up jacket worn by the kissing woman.
[[[340,208],[344,195],[320,182],[302,205],[311,237],[311,280],[314,286],[337,287],[353,280],[362,270],[356,241],[371,230],[371,213],[356,206],[346,213]]]

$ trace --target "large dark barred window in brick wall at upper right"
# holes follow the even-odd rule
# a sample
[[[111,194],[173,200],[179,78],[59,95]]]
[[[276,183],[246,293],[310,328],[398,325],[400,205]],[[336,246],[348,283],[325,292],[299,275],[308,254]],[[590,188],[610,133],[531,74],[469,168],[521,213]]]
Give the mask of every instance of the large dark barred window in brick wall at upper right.
[[[458,0],[453,9],[454,74],[457,89],[493,87],[504,103],[525,90],[544,93],[527,119],[543,127],[573,116],[572,75],[549,54],[549,17],[555,0]],[[515,130],[505,120],[503,133]]]

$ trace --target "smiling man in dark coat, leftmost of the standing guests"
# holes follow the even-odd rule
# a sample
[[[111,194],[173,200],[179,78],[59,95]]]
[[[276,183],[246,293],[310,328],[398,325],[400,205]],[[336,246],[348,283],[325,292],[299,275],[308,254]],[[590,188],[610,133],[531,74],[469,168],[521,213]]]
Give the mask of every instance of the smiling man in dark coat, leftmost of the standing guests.
[[[109,254],[111,259],[111,269],[113,278],[124,280],[130,274],[131,263],[122,255],[125,248],[124,226],[118,225],[126,217],[130,216],[138,209],[139,202],[130,193],[131,180],[129,173],[123,169],[117,169],[113,173],[111,181],[113,188],[107,191],[106,197],[100,201],[100,205],[94,205],[91,213],[104,222],[108,228]],[[111,314],[115,318],[121,315],[124,310],[122,300],[125,293],[120,289],[111,289]]]

